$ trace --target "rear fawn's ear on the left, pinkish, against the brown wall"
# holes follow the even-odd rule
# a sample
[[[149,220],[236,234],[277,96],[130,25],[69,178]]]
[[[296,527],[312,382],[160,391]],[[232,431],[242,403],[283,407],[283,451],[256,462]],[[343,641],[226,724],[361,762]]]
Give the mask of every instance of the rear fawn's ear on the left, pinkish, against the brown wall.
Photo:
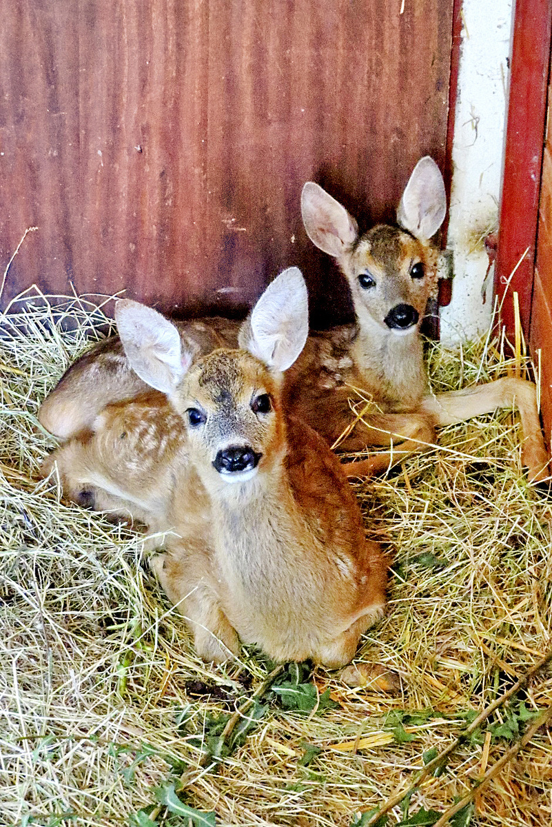
[[[355,218],[312,181],[302,188],[301,214],[312,243],[335,258],[343,256],[359,235]]]

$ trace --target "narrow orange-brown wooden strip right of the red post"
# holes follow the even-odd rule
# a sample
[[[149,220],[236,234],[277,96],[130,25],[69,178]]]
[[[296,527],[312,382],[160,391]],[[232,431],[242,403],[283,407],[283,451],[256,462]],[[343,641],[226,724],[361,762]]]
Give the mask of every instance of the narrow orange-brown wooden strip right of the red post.
[[[540,186],[539,229],[531,307],[531,353],[540,350],[541,410],[548,445],[552,445],[552,84]]]

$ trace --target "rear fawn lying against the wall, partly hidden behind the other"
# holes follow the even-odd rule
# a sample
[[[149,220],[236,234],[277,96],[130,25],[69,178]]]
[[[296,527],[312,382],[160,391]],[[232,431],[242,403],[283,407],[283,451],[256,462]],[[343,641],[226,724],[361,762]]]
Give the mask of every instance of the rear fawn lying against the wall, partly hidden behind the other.
[[[522,460],[530,480],[548,475],[535,385],[503,378],[464,390],[432,394],[423,361],[420,325],[435,290],[437,251],[431,237],[445,218],[445,187],[430,157],[416,165],[397,210],[398,227],[378,225],[359,237],[344,207],[320,186],[302,191],[308,236],[331,256],[350,284],[356,323],[312,333],[286,376],[287,409],[333,444],[354,421],[355,390],[369,410],[340,442],[340,450],[388,447],[347,466],[349,476],[382,471],[409,452],[435,442],[435,427],[516,405],[523,430]],[[179,323],[194,356],[235,347],[238,324],[221,319]],[[102,342],[69,368],[45,399],[40,422],[60,438],[89,428],[104,405],[145,390],[117,338]]]

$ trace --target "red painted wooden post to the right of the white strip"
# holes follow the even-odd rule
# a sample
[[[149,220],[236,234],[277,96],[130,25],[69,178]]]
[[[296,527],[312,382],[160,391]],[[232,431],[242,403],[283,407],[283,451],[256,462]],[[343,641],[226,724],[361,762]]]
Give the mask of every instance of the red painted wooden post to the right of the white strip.
[[[509,335],[514,330],[513,294],[518,294],[526,337],[531,323],[551,28],[552,0],[517,0],[495,290]]]

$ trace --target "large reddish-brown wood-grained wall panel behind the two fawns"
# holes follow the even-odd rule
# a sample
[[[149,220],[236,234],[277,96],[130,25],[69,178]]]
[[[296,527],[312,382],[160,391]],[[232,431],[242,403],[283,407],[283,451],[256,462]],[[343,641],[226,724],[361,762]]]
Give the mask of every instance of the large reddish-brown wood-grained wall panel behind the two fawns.
[[[403,13],[401,13],[403,5]],[[302,230],[316,179],[361,222],[445,160],[452,0],[1,0],[3,294],[250,304],[284,266],[349,300]]]

